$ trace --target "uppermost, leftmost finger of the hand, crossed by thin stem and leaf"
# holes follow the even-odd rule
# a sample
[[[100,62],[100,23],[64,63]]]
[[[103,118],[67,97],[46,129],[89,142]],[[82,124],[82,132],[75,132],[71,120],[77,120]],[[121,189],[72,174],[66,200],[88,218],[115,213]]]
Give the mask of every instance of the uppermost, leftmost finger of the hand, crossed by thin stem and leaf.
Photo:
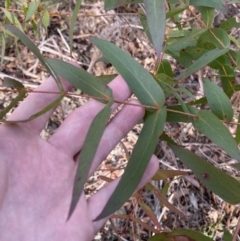
[[[70,90],[73,86],[66,80],[60,78],[65,91]],[[11,114],[8,120],[18,121],[28,119],[33,114],[45,108],[51,102],[53,102],[59,94],[53,94],[51,92],[60,92],[55,80],[49,77],[39,87],[34,90],[35,93],[30,93],[29,96],[19,105],[19,107]],[[41,92],[41,93],[37,93]],[[49,93],[43,93],[49,92]],[[32,121],[26,123],[18,123],[18,125],[26,130],[31,130],[33,134],[39,134],[44,128],[47,120],[53,113],[53,109],[45,114],[35,118]]]

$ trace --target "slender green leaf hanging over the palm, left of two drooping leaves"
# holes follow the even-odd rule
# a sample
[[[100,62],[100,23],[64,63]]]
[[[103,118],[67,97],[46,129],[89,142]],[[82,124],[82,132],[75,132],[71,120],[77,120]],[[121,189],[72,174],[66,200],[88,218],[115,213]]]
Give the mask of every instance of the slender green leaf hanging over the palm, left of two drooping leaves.
[[[71,217],[87,182],[88,173],[96,154],[98,144],[110,118],[113,99],[96,115],[87,133],[83,148],[78,158],[78,168],[74,179],[72,200],[68,219]]]

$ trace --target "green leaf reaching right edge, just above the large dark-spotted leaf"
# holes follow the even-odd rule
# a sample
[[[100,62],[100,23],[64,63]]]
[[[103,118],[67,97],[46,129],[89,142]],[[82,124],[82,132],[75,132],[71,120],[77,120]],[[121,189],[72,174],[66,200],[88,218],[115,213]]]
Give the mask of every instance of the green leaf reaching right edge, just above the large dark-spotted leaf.
[[[210,111],[200,110],[198,116],[198,119],[193,120],[193,126],[222,147],[232,158],[240,161],[237,143],[226,126]]]

